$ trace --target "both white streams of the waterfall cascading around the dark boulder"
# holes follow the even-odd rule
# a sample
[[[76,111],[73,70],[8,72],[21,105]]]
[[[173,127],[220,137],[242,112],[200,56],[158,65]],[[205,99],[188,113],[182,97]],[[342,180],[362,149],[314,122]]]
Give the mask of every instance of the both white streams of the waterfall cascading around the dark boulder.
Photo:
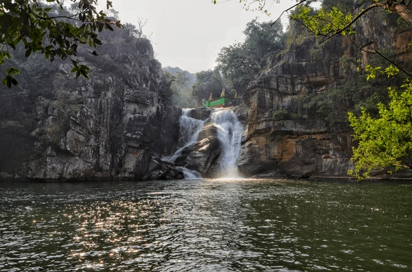
[[[182,150],[196,143],[199,133],[202,131],[207,121],[202,121],[190,117],[192,109],[182,109],[182,116],[179,119],[179,145],[181,148],[172,156],[163,157],[162,160],[174,162]],[[238,117],[229,109],[219,109],[211,112],[210,123],[218,129],[218,139],[222,143],[222,153],[218,161],[216,176],[219,178],[239,178],[240,174],[236,161],[240,152],[243,127],[238,121]],[[193,170],[181,167],[185,179],[201,178],[201,175]]]

